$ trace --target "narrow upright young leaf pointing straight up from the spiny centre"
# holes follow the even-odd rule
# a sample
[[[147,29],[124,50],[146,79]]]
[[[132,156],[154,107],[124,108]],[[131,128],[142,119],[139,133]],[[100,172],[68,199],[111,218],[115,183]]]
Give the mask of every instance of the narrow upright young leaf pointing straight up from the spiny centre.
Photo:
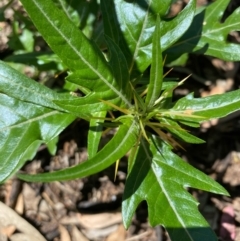
[[[160,33],[160,17],[157,16],[155,32],[153,35],[152,46],[152,65],[150,71],[150,81],[148,85],[148,92],[146,96],[146,104],[148,108],[154,106],[155,101],[158,99],[162,89],[162,52],[160,45],[161,33]]]

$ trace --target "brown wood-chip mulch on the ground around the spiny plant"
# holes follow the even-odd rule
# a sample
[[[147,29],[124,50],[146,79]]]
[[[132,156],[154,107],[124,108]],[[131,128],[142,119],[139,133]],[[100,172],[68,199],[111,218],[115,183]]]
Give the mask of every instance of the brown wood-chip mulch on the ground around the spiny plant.
[[[1,0],[0,7],[8,0]],[[184,2],[178,1],[171,14]],[[199,0],[198,5],[209,1]],[[14,7],[19,7],[14,1]],[[232,1],[231,12],[239,6]],[[12,31],[13,11],[5,12],[0,21],[0,58],[11,51],[7,45]],[[239,41],[239,34],[233,34]],[[166,68],[167,71],[168,68]],[[184,67],[176,67],[170,76],[192,77],[175,92],[180,98],[190,92],[209,96],[238,89],[239,63],[225,62],[206,56],[190,55]],[[186,145],[182,157],[221,183],[229,197],[190,190],[200,202],[199,210],[222,241],[240,240],[240,112],[220,120],[203,123],[193,133],[206,141],[201,145]],[[29,173],[57,170],[80,163],[87,158],[87,123],[76,121],[60,136],[58,151],[50,156],[42,146],[32,162],[24,166]],[[106,137],[105,140],[107,141]],[[26,183],[12,178],[0,186],[0,240],[48,241],[169,241],[163,228],[150,227],[147,206],[142,203],[128,230],[122,225],[121,196],[126,180],[127,161],[122,160],[114,180],[114,166],[96,175],[69,182],[49,184]],[[10,208],[9,208],[10,207]]]

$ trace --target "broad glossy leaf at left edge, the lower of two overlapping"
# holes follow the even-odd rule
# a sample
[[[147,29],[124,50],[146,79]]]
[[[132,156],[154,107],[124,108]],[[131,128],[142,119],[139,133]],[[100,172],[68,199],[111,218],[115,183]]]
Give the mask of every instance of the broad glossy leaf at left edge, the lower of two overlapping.
[[[0,182],[32,159],[42,143],[51,142],[76,117],[0,94]]]

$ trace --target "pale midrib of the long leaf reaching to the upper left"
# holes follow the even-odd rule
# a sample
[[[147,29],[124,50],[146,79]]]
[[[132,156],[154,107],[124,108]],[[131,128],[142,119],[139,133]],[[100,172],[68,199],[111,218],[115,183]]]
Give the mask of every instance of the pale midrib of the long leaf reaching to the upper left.
[[[60,29],[56,28],[56,26],[52,23],[51,19],[45,14],[41,6],[33,0],[37,8],[40,10],[42,15],[47,19],[47,21],[52,25],[52,27],[56,30],[56,32],[59,33],[59,35],[66,41],[69,47],[72,48],[72,50],[75,52],[75,54],[88,66],[91,71],[93,71],[115,94],[117,94],[118,97],[122,99],[122,101],[128,106],[131,107],[131,103],[127,100],[127,98],[122,94],[122,92],[118,91],[113,85],[111,85],[107,79],[101,75],[98,71],[96,71],[95,68],[91,66],[91,64],[80,54],[80,52],[75,48],[74,45],[72,45],[71,41],[60,31]]]

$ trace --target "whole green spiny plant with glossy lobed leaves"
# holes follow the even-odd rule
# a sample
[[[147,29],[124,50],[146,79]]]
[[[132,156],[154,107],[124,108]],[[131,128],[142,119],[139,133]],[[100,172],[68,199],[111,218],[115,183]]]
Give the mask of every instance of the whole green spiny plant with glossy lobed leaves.
[[[42,143],[54,153],[59,133],[82,118],[90,123],[87,161],[18,177],[30,182],[82,178],[129,153],[122,202],[126,228],[145,200],[150,224],[164,226],[171,240],[217,240],[186,188],[228,193],[173,148],[181,147],[177,139],[203,143],[186,126],[199,127],[205,120],[239,110],[240,91],[205,98],[189,94],[174,102],[173,91],[184,80],[169,81],[163,65],[166,55],[176,59],[190,52],[239,60],[240,46],[227,42],[227,35],[240,30],[240,8],[221,22],[229,0],[217,0],[197,11],[196,0],[190,0],[172,18],[168,17],[171,0],[73,2],[76,5],[67,0],[21,0],[67,69],[66,83],[82,96],[51,90],[0,62],[1,182],[32,159]],[[77,11],[81,8],[86,11]],[[86,22],[99,9],[102,22],[94,30]],[[82,16],[80,22],[76,12]],[[116,128],[116,133],[99,150],[105,128]]]

